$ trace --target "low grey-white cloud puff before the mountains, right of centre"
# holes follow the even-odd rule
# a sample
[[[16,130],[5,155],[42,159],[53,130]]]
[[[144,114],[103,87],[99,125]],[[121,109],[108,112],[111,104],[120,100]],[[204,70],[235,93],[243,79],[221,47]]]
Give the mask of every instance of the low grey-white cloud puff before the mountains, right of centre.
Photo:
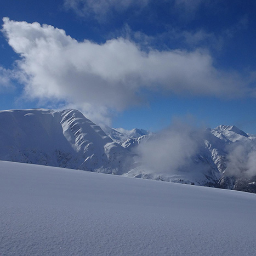
[[[191,133],[192,129],[185,123],[177,123],[163,130],[139,144],[136,149],[138,162],[147,172],[158,174],[192,170],[194,165],[191,158],[197,153],[198,143]]]

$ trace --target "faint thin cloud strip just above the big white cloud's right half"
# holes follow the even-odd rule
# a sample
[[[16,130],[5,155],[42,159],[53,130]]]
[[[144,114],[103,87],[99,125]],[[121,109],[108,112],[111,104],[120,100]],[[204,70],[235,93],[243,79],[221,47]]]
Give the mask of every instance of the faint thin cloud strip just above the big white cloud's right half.
[[[123,37],[134,41],[147,49],[187,49],[195,50],[198,48],[207,49],[210,52],[221,52],[228,45],[230,39],[237,33],[246,29],[248,19],[243,16],[235,24],[225,27],[218,32],[209,32],[201,27],[192,30],[184,30],[172,25],[166,25],[165,31],[155,35],[146,35],[141,31],[133,31],[128,24],[124,24],[121,30],[110,32],[109,37]]]

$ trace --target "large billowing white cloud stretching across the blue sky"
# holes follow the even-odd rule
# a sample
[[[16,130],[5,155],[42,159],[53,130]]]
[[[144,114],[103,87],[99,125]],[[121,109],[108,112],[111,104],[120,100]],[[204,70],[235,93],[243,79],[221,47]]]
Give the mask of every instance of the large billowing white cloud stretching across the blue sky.
[[[4,18],[3,32],[21,56],[25,95],[106,116],[141,102],[141,91],[230,97],[247,93],[234,73],[215,69],[200,49],[144,52],[124,38],[78,42],[64,30]],[[86,35],[84,35],[86,37]]]

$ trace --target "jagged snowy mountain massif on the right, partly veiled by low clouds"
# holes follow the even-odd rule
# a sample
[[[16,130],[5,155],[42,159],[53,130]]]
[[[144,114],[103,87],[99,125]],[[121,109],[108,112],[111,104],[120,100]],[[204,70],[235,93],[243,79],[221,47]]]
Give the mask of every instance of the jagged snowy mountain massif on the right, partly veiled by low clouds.
[[[179,140],[175,140],[175,135],[147,138],[143,147],[138,147],[136,167],[123,175],[256,192],[255,136],[235,126],[224,125],[208,128],[200,134],[198,131],[179,133]],[[137,139],[140,138],[143,137]],[[179,144],[183,144],[181,149]],[[186,156],[189,147],[194,150]]]

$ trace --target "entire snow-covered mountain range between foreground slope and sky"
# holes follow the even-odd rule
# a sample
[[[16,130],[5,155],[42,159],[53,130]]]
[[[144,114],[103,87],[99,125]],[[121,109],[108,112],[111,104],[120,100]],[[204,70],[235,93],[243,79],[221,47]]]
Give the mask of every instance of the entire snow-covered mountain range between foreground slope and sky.
[[[256,137],[235,126],[101,129],[77,110],[0,111],[0,160],[256,192]]]

